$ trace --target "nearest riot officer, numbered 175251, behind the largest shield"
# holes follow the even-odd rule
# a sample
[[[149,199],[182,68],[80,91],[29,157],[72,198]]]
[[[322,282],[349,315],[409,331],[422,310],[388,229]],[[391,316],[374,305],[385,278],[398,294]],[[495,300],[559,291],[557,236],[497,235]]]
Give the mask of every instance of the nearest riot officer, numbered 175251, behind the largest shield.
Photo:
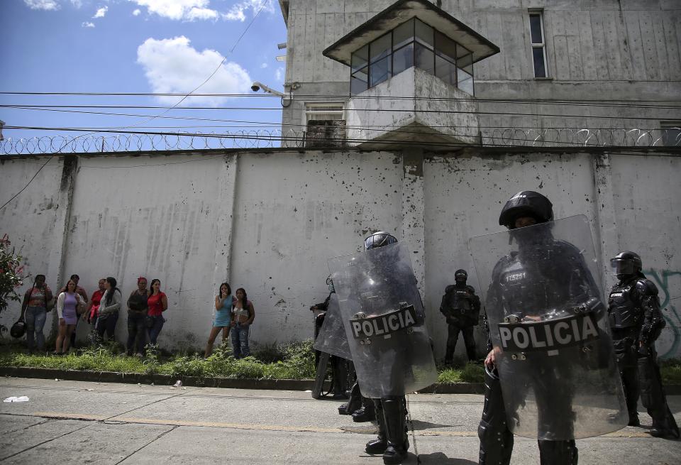
[[[594,307],[600,305],[600,310],[590,310],[603,313],[602,304],[594,298],[599,295],[597,286],[577,248],[565,241],[555,241],[549,228],[542,228],[541,231],[526,228],[552,220],[553,205],[538,192],[519,192],[506,202],[499,216],[499,224],[509,229],[518,251],[505,256],[494,267],[486,299],[488,311],[491,307],[501,308],[507,317],[538,322],[539,317],[531,314],[533,309],[564,307],[571,297],[583,294],[582,302]],[[485,359],[485,405],[478,427],[480,464],[507,465],[511,460],[514,441],[507,424],[504,398],[495,366],[499,349],[492,349],[491,341],[487,345],[490,350]],[[524,354],[519,358],[524,358]],[[525,385],[534,390],[538,429],[550,432],[543,435],[544,439],[538,439],[541,464],[577,464],[574,439],[546,439],[572,437],[575,415],[572,412],[570,366],[555,362],[553,366],[544,364],[541,368],[535,368],[532,360],[519,363],[525,363],[524,369],[526,374],[529,373],[527,379],[506,382]],[[521,396],[509,401],[511,406],[520,405],[524,403],[524,398]],[[516,415],[514,411],[511,413]],[[518,420],[516,417],[511,418]]]

